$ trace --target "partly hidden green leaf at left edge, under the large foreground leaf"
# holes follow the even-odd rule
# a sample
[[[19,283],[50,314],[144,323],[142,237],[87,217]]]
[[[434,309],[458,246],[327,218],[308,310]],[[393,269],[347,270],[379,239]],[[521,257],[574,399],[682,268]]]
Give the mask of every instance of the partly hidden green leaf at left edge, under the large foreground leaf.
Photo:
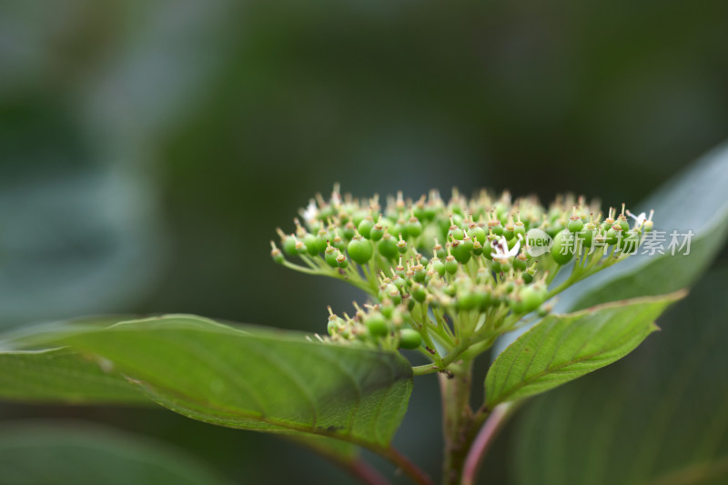
[[[103,362],[102,362],[103,364]],[[98,360],[70,349],[0,350],[0,399],[33,403],[150,404]]]

